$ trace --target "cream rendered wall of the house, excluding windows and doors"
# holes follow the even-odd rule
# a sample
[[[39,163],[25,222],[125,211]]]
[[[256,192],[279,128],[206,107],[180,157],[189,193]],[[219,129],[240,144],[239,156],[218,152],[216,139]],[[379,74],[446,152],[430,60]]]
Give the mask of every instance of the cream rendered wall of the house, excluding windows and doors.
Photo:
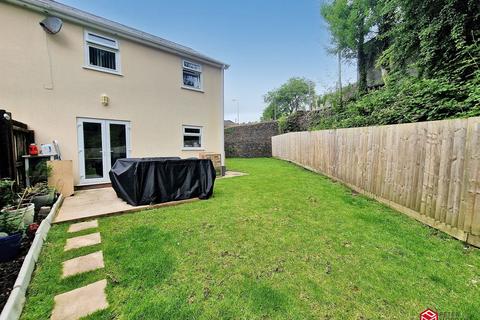
[[[223,155],[221,68],[202,64],[203,93],[183,89],[182,57],[100,32],[119,41],[122,76],[88,70],[84,30],[95,30],[64,21],[48,35],[44,17],[0,2],[0,108],[35,130],[37,143],[58,140],[76,184],[77,117],[131,121],[133,157],[198,156],[182,150],[184,124],[202,126],[205,151]]]

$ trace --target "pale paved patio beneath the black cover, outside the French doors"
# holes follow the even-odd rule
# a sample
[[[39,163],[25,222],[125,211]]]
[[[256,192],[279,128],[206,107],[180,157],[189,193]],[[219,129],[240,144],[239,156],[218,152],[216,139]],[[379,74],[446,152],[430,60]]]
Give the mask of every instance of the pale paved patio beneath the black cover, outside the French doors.
[[[134,207],[118,198],[111,187],[81,190],[76,191],[74,196],[65,198],[53,222],[82,221],[93,217],[175,206],[197,200],[198,198],[194,198]]]

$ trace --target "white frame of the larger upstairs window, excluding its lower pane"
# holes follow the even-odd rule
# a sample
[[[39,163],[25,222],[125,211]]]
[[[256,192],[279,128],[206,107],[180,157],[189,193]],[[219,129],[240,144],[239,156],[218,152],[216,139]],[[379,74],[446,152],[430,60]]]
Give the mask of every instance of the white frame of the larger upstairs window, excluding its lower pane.
[[[102,71],[106,73],[121,75],[122,70],[121,70],[121,63],[120,63],[120,46],[119,46],[118,40],[97,32],[89,31],[89,30],[85,30],[84,35],[85,35],[84,36],[85,65],[83,67],[85,69],[92,69],[92,70]],[[104,42],[100,42],[91,36],[106,39],[108,41],[113,42],[113,44],[109,45]],[[90,50],[89,50],[90,47],[115,53],[115,70],[90,64]]]

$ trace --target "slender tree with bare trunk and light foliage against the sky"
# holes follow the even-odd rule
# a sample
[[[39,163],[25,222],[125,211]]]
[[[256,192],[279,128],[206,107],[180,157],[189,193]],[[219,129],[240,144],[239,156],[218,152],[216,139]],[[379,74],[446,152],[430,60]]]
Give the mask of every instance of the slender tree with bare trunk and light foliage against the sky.
[[[333,0],[321,7],[332,35],[331,53],[346,59],[357,59],[358,92],[367,91],[365,38],[376,25],[376,0]]]

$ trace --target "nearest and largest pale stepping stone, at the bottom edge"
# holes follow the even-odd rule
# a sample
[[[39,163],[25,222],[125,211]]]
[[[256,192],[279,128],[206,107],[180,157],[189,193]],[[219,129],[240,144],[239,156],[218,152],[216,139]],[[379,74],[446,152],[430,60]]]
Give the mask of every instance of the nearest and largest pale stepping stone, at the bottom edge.
[[[105,288],[107,280],[100,280],[57,295],[51,320],[77,320],[108,308]]]

